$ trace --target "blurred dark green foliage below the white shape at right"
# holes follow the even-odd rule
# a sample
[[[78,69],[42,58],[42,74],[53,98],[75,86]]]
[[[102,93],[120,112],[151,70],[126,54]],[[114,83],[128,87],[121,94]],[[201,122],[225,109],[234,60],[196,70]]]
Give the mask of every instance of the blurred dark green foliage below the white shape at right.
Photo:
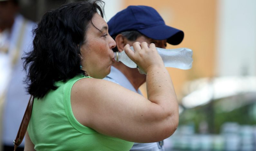
[[[201,133],[200,123],[208,124],[207,132],[218,134],[225,122],[236,122],[240,125],[256,124],[256,99],[246,100],[243,95],[211,101],[180,114],[180,125],[193,123],[196,133]]]

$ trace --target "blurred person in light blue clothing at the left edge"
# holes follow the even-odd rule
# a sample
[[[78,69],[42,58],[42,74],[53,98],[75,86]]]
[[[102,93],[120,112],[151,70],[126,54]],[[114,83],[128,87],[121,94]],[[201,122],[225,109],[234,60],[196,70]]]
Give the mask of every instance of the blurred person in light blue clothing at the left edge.
[[[0,136],[4,150],[14,150],[13,140],[29,99],[21,56],[31,50],[34,25],[19,13],[18,0],[0,0]],[[24,150],[24,142],[18,150]]]

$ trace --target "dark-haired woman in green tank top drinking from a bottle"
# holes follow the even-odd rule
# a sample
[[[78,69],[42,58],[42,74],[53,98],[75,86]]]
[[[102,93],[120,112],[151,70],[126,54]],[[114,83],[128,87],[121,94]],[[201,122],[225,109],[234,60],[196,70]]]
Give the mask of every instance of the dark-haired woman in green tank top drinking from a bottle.
[[[125,46],[147,73],[148,99],[102,80],[114,63],[116,43],[100,4],[63,5],[34,30],[33,51],[24,58],[27,89],[35,97],[25,150],[125,151],[132,142],[157,142],[174,133],[178,104],[154,44],[136,42],[135,52]]]

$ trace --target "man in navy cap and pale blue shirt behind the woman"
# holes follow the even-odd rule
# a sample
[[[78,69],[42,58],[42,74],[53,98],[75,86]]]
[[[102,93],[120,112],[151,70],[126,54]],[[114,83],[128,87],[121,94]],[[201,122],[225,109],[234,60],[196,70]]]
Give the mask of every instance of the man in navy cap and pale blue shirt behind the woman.
[[[149,6],[128,6],[113,16],[108,26],[110,36],[116,41],[114,52],[123,51],[127,44],[132,46],[134,42],[143,41],[166,48],[166,43],[177,45],[184,38],[183,31],[167,26],[160,14]],[[141,94],[139,87],[146,82],[146,75],[140,74],[137,68],[115,62],[104,79]],[[134,143],[131,151],[163,151],[163,143]]]

